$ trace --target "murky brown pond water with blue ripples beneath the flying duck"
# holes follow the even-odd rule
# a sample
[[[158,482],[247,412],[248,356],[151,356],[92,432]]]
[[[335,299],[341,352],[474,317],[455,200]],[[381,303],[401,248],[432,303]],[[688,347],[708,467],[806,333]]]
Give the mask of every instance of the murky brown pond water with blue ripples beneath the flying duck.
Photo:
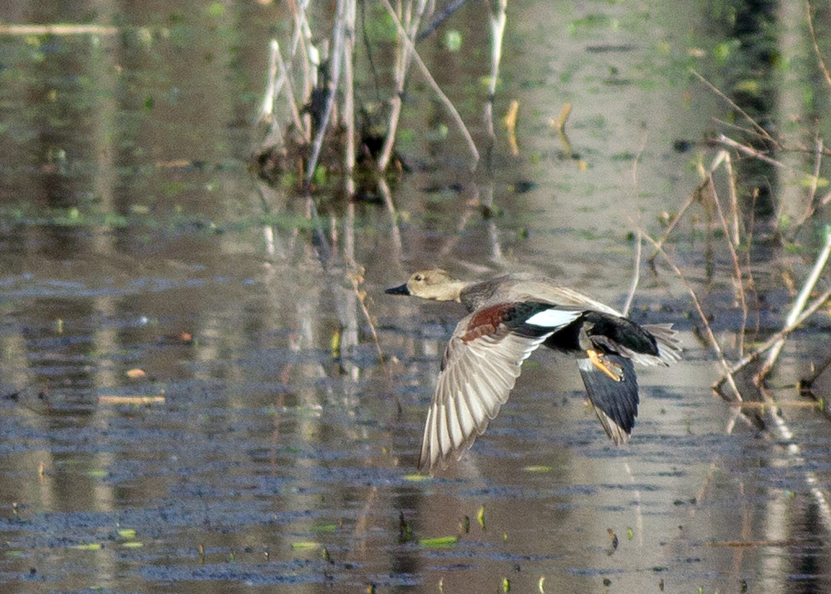
[[[469,276],[525,267],[622,304],[627,234],[652,230],[700,181],[671,141],[697,140],[724,116],[673,70],[690,56],[678,32],[712,22],[707,12],[515,7],[494,113],[519,97],[520,156],[503,152],[498,121],[491,176],[448,165],[464,161],[458,139],[418,141],[425,166],[381,185],[373,205],[257,186],[244,171],[256,102],[246,97],[262,86],[284,8],[226,8],[217,18],[188,3],[142,7],[120,14],[130,24],[116,37],[0,40],[0,579],[10,591],[494,592],[507,578],[531,592],[543,577],[546,592],[829,589],[828,518],[811,489],[827,491],[831,435],[791,387],[827,356],[822,322],[789,340],[773,383],[801,458],[730,423],[709,389],[720,373],[711,351],[687,334],[683,364],[639,374],[627,448],[607,443],[572,366],[538,354],[471,453],[436,478],[412,475],[460,312],[387,300],[383,288],[421,265]],[[5,10],[4,22],[39,14]],[[55,10],[38,18],[84,18]],[[460,19],[477,17],[464,10]],[[734,32],[710,35],[691,45]],[[478,41],[440,72],[458,97],[487,72]],[[423,57],[438,64],[443,52],[427,42]],[[775,80],[763,70],[754,77]],[[413,101],[424,127],[442,122]],[[578,161],[557,157],[548,128],[564,101]],[[785,105],[777,95],[762,111]],[[753,187],[788,186],[750,161],[739,170],[750,199]],[[533,183],[519,191],[518,181]],[[715,217],[708,227],[696,212],[672,255],[735,346],[730,257]],[[747,212],[757,228],[767,214]],[[790,300],[770,274],[778,250],[753,248],[760,335]],[[659,270],[644,275],[633,316],[697,324],[684,288]],[[420,542],[447,536],[459,542]]]

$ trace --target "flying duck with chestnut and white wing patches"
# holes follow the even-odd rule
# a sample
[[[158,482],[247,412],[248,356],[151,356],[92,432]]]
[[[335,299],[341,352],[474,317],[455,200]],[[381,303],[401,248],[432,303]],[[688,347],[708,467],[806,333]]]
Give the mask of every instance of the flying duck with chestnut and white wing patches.
[[[616,309],[532,274],[465,282],[420,270],[390,295],[457,301],[469,314],[445,349],[421,444],[419,470],[446,468],[499,413],[522,363],[540,345],[573,354],[597,418],[612,441],[627,441],[640,402],[634,365],[681,359],[671,324],[640,325]]]

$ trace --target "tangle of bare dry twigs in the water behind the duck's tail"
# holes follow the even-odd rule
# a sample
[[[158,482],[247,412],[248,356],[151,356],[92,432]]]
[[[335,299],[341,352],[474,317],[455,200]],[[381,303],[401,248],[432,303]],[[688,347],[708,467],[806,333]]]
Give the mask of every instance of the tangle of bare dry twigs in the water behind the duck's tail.
[[[784,142],[774,138],[768,130],[766,130],[763,126],[760,126],[745,111],[743,111],[740,106],[735,103],[735,101],[732,101],[729,97],[726,97],[724,93],[720,92],[715,86],[706,81],[706,79],[701,77],[701,75],[697,72],[694,72],[694,74],[702,82],[704,82],[706,86],[711,89],[711,91],[715,92],[716,95],[725,99],[725,101],[728,101],[730,106],[735,109],[735,111],[740,113],[741,116],[744,116],[747,121],[750,122],[751,126],[750,129],[740,129],[735,126],[731,127],[739,130],[745,135],[755,136],[757,140],[760,139],[763,141],[765,146],[769,149],[776,149],[781,152],[793,151],[803,152],[805,154],[811,153],[811,151],[806,151],[802,147],[788,147]],[[828,225],[825,227],[824,245],[819,250],[819,254],[814,260],[813,268],[809,275],[806,276],[802,289],[799,291],[799,295],[795,297],[794,303],[789,309],[789,313],[784,320],[782,328],[768,337],[768,339],[766,339],[762,344],[756,346],[750,353],[745,353],[746,325],[750,312],[747,295],[751,294],[751,292],[755,293],[759,290],[758,287],[755,286],[753,275],[751,275],[751,266],[753,264],[751,255],[754,247],[753,232],[756,224],[754,212],[756,196],[752,191],[749,196],[746,196],[748,199],[746,201],[750,202],[750,205],[749,207],[745,207],[747,209],[747,213],[745,214],[742,209],[742,202],[740,200],[738,190],[740,187],[738,183],[739,176],[734,168],[734,158],[738,157],[745,160],[759,161],[767,166],[771,166],[771,171],[775,171],[779,176],[793,176],[798,178],[800,181],[806,179],[809,181],[807,191],[804,196],[799,196],[799,200],[804,200],[804,203],[801,207],[802,210],[797,210],[797,213],[801,212],[801,215],[797,217],[789,218],[785,215],[788,211],[791,213],[794,212],[793,208],[788,210],[783,205],[783,202],[787,200],[787,196],[774,196],[773,198],[774,216],[777,217],[775,220],[776,227],[774,228],[775,232],[773,237],[774,239],[780,240],[783,244],[787,244],[793,241],[794,238],[796,238],[800,233],[804,233],[809,226],[807,224],[815,222],[814,215],[819,208],[831,200],[831,197],[829,197],[831,195],[820,198],[819,200],[816,196],[820,180],[822,156],[826,153],[826,151],[824,149],[823,141],[817,137],[814,141],[813,147],[814,158],[812,171],[810,173],[805,173],[803,171],[799,171],[799,166],[794,166],[792,163],[780,160],[772,151],[760,150],[754,146],[750,146],[750,144],[736,141],[723,133],[719,133],[715,136],[715,143],[723,148],[716,153],[715,159],[712,161],[711,166],[708,169],[705,170],[703,166],[699,166],[702,178],[701,183],[693,191],[691,191],[690,197],[686,200],[685,204],[681,206],[681,210],[670,220],[664,234],[657,240],[653,240],[648,235],[645,235],[646,239],[654,246],[649,262],[650,265],[652,265],[652,270],[656,270],[655,258],[657,255],[661,255],[667,265],[669,265],[671,270],[673,270],[676,274],[678,279],[680,279],[686,286],[686,289],[691,296],[698,317],[701,320],[701,325],[708,339],[709,346],[715,351],[720,367],[723,371],[720,379],[712,385],[712,388],[717,394],[720,394],[722,398],[736,404],[735,406],[730,407],[730,414],[732,416],[730,422],[728,423],[728,430],[732,428],[733,419],[735,418],[741,418],[747,422],[750,422],[750,415],[765,414],[765,418],[770,423],[771,428],[771,434],[767,437],[777,439],[781,441],[781,443],[786,444],[785,447],[787,448],[789,455],[793,458],[794,463],[796,463],[799,467],[804,467],[805,460],[802,448],[800,448],[796,436],[789,428],[779,411],[781,408],[787,406],[797,408],[820,408],[825,411],[826,404],[822,400],[820,400],[819,403],[815,401],[806,402],[799,400],[785,403],[777,402],[774,400],[766,386],[766,378],[770,374],[771,370],[774,369],[774,366],[779,359],[779,354],[784,346],[784,341],[787,339],[788,335],[793,332],[794,329],[797,329],[804,324],[805,320],[809,319],[811,315],[816,313],[821,307],[823,307],[824,304],[828,302],[829,299],[831,299],[831,290],[824,290],[819,296],[815,297],[813,301],[810,300],[810,296],[814,294],[814,291],[819,284],[821,275],[824,270],[827,269],[829,257],[831,257],[831,227]],[[783,186],[786,186],[788,182],[789,181],[786,181]],[[727,187],[730,200],[728,208],[725,208],[720,200],[719,193],[717,191],[717,186],[720,185]],[[791,186],[794,185],[791,184]],[[790,197],[793,198],[793,196]],[[679,265],[676,264],[676,262],[666,253],[666,250],[664,249],[671,237],[677,234],[678,229],[681,226],[681,222],[683,220],[693,220],[693,216],[690,215],[690,213],[695,205],[701,206],[701,208],[703,208],[706,212],[708,245],[706,248],[707,254],[705,266],[708,270],[708,274],[706,275],[708,280],[711,280],[710,271],[715,269],[715,265],[712,260],[715,259],[715,254],[718,253],[717,250],[715,250],[711,245],[711,242],[715,241],[715,235],[711,232],[712,230],[709,226],[720,227],[720,230],[723,232],[722,242],[725,246],[725,250],[723,251],[728,253],[730,256],[730,270],[735,293],[735,307],[739,310],[741,315],[740,327],[736,329],[735,333],[735,357],[737,360],[732,363],[729,360],[730,354],[727,352],[729,349],[725,349],[725,347],[719,343],[719,340],[716,338],[715,333],[711,328],[711,314],[706,311],[704,305],[701,303],[701,300],[696,296],[695,290],[693,290],[690,283],[686,280],[686,275],[681,271]],[[715,214],[715,216],[712,216],[712,214]],[[740,257],[740,250],[744,250],[744,258]],[[760,365],[760,369],[752,376],[753,384],[742,384],[742,388],[740,389],[738,381],[739,374],[746,372],[751,364],[755,364],[763,358],[764,363]],[[824,364],[819,367],[813,377],[804,380],[804,387],[809,388],[810,384],[813,384],[813,382],[819,377],[819,374],[821,374],[824,369],[827,369],[829,365],[831,365],[831,358],[827,359]],[[742,390],[745,391],[744,394]],[[809,389],[805,390],[803,394],[812,395]],[[746,413],[745,410],[747,411]],[[827,525],[831,525],[831,505],[829,505],[829,501],[826,498],[824,491],[819,488],[819,479],[813,471],[806,470],[804,472],[804,481],[817,503],[820,517]],[[700,495],[702,495],[702,493],[700,493]],[[699,497],[699,500],[701,500],[701,497]],[[727,546],[734,545],[730,543]],[[745,546],[743,542],[741,546]]]

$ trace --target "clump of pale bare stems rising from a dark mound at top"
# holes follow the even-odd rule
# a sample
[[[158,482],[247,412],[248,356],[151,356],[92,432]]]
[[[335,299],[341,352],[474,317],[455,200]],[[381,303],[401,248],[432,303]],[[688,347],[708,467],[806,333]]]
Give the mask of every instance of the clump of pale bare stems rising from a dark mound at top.
[[[416,48],[416,42],[435,31],[435,22],[420,32],[420,26],[429,18],[433,3],[425,0],[397,2],[395,6],[382,0],[391,22],[396,27],[396,51],[391,57],[392,72],[389,89],[376,88],[376,95],[388,97],[386,114],[378,114],[370,106],[356,103],[355,62],[356,35],[366,41],[366,7],[362,8],[361,32],[356,31],[356,0],[338,0],[331,19],[310,18],[311,0],[288,2],[293,15],[293,31],[288,42],[273,40],[268,63],[268,86],[263,101],[261,118],[269,125],[263,141],[263,149],[256,156],[256,166],[264,178],[275,181],[285,173],[301,170],[299,181],[309,188],[317,180],[319,167],[324,171],[338,171],[350,180],[356,165],[361,171],[384,174],[401,162],[396,157],[396,132],[401,121],[401,108],[408,80],[413,71],[419,72],[428,83],[435,97],[465,139],[470,150],[471,168],[479,161],[479,150],[460,112],[445,95]],[[502,56],[502,40],[507,22],[507,0],[489,3],[491,32],[491,64],[488,96],[485,101],[485,121],[491,138],[493,130],[493,101],[499,78],[499,62]],[[450,17],[446,12],[440,19]],[[372,17],[372,16],[370,16]],[[325,23],[319,25],[317,23]],[[315,23],[317,30],[312,30]],[[326,27],[321,34],[321,27]],[[323,39],[312,43],[313,39]],[[366,43],[365,43],[366,46]],[[373,72],[380,65],[376,61],[383,54],[372,54],[366,47],[367,60]],[[376,77],[377,85],[377,77]],[[278,101],[280,96],[283,99]],[[278,117],[278,106],[285,105],[288,117]],[[280,110],[282,111],[282,110]],[[372,113],[386,123],[381,136],[369,130]],[[361,125],[356,120],[361,114]],[[366,120],[366,121],[364,121]],[[379,122],[376,122],[379,123]],[[318,184],[319,185],[319,184]]]

